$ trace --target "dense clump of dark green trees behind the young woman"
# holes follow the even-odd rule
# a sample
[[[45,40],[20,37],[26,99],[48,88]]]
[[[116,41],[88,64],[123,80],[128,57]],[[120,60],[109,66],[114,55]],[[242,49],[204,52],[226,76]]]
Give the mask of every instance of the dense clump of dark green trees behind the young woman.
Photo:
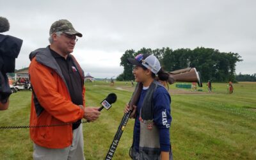
[[[120,66],[124,72],[116,77],[117,81],[131,81],[134,79],[132,65],[127,58],[134,58],[138,54],[154,54],[165,71],[174,71],[187,67],[195,67],[201,73],[203,81],[236,82],[236,63],[241,56],[234,52],[220,52],[218,49],[196,47],[195,49],[150,49],[143,47],[139,51],[129,49],[121,57]]]

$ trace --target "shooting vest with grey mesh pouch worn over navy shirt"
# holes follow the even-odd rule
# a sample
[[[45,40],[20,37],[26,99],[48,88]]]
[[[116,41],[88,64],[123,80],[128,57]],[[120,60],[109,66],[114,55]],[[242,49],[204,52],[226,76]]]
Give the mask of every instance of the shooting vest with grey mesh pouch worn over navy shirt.
[[[130,157],[134,160],[160,160],[161,150],[159,142],[159,129],[154,124],[154,103],[153,95],[158,87],[164,87],[157,81],[150,84],[143,100],[140,110],[140,149],[130,148]],[[170,158],[172,159],[172,149],[170,148]]]

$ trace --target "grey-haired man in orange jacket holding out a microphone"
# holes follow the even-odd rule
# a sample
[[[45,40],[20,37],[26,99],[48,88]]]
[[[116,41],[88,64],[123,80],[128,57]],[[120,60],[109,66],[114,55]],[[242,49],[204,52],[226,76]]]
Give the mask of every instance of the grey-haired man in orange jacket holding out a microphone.
[[[84,72],[71,52],[77,32],[65,19],[57,20],[49,33],[50,45],[29,54],[33,94],[30,125],[61,125],[30,129],[34,159],[84,159],[83,125],[99,118],[99,108],[86,107]]]

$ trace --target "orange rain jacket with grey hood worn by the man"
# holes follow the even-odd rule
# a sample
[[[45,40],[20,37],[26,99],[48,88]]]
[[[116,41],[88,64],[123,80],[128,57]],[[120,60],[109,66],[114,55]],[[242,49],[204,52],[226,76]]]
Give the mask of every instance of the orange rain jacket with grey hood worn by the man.
[[[84,108],[72,103],[67,83],[49,46],[36,49],[29,54],[29,58],[31,60],[29,76],[35,93],[31,98],[30,125],[55,125],[82,119]],[[76,59],[73,56],[72,58],[84,82],[84,72]],[[83,106],[85,106],[84,93],[83,85]],[[72,144],[72,124],[30,128],[30,137],[34,143],[42,147],[65,148]]]

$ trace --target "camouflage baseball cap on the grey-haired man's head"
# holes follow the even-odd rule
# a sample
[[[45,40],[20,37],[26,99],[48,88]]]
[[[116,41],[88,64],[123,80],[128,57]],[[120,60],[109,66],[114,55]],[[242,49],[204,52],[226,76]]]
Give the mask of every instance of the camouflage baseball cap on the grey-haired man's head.
[[[69,22],[67,19],[60,19],[54,22],[50,28],[50,35],[52,33],[56,33],[58,31],[62,31],[63,33],[66,33],[67,35],[76,35],[79,37],[82,37],[83,35],[76,31],[74,27],[72,26],[71,22]]]

